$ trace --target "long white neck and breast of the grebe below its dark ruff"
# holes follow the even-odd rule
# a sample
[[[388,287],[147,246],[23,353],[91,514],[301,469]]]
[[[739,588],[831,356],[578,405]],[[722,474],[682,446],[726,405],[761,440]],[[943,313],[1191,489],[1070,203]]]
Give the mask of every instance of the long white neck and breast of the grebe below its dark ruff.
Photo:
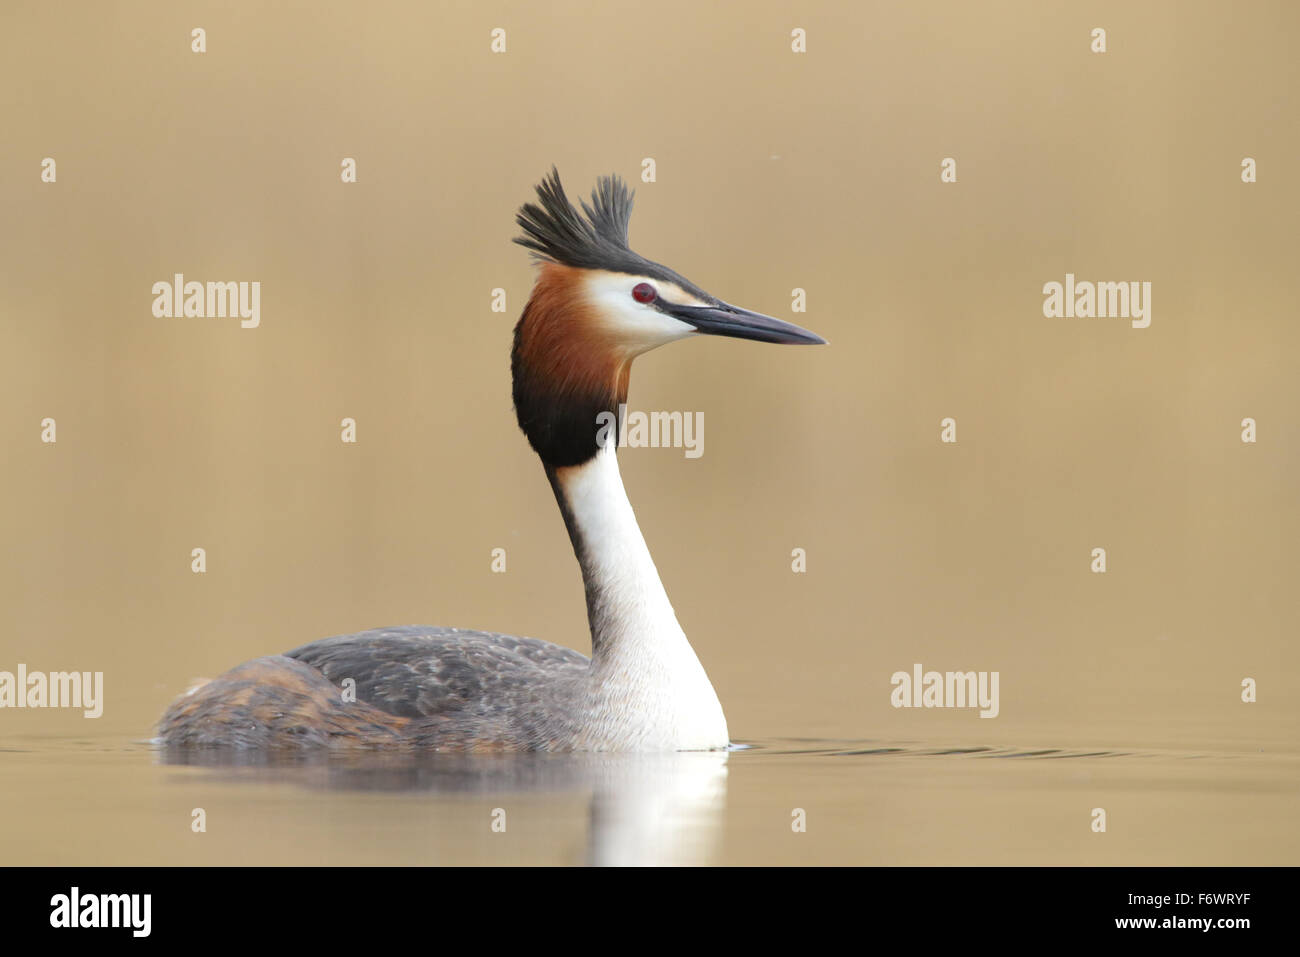
[[[722,705],[659,581],[612,443],[581,465],[551,469],[551,481],[582,567],[592,625],[582,746],[725,748]]]

